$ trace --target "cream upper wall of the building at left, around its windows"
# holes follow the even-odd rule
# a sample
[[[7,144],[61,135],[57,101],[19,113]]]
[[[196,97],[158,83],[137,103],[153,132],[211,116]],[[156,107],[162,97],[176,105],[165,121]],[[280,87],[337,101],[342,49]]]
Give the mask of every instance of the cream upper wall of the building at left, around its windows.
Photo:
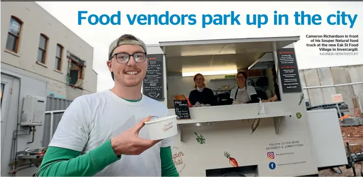
[[[17,54],[5,49],[11,16],[23,21]],[[45,66],[36,63],[40,33],[49,38]],[[54,71],[57,43],[64,47],[61,72]],[[93,47],[51,16],[36,2],[1,2],[0,49],[1,65],[14,66],[46,78],[47,90],[45,93],[47,95],[53,93],[61,98],[74,99],[83,94],[96,92],[97,73],[92,69]],[[86,61],[84,90],[73,89],[67,85],[67,50]]]

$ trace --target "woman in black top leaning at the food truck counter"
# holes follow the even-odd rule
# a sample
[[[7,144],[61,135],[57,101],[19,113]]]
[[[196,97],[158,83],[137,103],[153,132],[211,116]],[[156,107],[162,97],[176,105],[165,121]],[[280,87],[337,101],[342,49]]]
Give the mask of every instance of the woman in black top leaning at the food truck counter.
[[[205,87],[204,77],[198,73],[194,76],[194,90],[189,93],[189,101],[193,107],[214,106],[216,98],[210,88]]]

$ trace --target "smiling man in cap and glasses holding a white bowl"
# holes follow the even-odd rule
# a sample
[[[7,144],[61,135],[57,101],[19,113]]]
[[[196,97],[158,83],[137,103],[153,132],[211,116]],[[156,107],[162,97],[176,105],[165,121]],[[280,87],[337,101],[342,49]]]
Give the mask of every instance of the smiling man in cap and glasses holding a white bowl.
[[[132,35],[111,43],[111,90],[76,98],[64,112],[36,176],[179,177],[173,138],[148,139],[145,121],[168,116],[159,101],[140,93],[146,45]]]

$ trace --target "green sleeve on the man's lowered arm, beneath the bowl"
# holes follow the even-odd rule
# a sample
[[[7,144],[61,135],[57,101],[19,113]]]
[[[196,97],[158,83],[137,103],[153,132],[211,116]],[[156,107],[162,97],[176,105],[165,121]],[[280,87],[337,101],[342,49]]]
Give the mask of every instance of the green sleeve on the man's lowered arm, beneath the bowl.
[[[170,146],[160,148],[161,177],[179,177]]]

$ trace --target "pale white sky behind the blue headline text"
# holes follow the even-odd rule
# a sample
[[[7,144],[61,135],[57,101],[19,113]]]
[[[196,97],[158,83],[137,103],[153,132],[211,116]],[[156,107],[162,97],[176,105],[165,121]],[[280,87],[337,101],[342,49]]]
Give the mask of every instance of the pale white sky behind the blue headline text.
[[[321,56],[319,47],[307,47],[310,38],[306,35],[359,35],[363,36],[363,2],[125,2],[125,1],[39,1],[37,2],[61,21],[70,30],[94,48],[93,69],[98,73],[97,91],[109,89],[114,85],[106,66],[109,44],[122,34],[132,34],[146,44],[158,44],[160,41],[201,40],[201,39],[235,39],[300,36],[295,43],[299,69],[363,64],[362,46],[358,46],[358,56]],[[326,17],[345,12],[357,19],[352,28],[348,25],[329,25]],[[78,11],[89,14],[107,14],[109,16],[121,11],[121,25],[90,25],[86,20],[78,25]],[[130,25],[126,14],[195,14],[196,25]],[[235,14],[241,15],[241,25],[208,25],[202,28],[202,14]],[[288,25],[273,25],[274,11],[288,15]],[[294,13],[322,16],[321,25],[296,25]],[[246,14],[266,14],[268,23],[258,28],[245,24]],[[342,19],[341,19],[342,20]],[[346,18],[346,21],[349,21]]]

